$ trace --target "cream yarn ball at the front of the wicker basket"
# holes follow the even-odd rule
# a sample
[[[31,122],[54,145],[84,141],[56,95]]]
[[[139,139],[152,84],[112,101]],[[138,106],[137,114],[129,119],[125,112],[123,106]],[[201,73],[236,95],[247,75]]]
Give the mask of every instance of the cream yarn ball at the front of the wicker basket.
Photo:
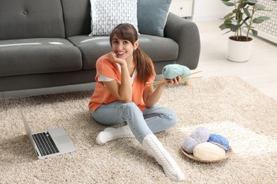
[[[203,142],[195,146],[193,156],[205,161],[215,161],[225,157],[225,150],[211,142]]]

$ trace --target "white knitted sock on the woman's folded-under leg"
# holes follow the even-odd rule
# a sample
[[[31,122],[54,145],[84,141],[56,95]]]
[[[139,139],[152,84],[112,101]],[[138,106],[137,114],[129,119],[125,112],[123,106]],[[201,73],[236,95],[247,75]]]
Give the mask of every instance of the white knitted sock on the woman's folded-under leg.
[[[112,141],[114,139],[124,138],[124,137],[134,137],[131,132],[129,125],[123,127],[107,127],[104,131],[97,135],[96,142],[98,144],[105,144],[106,142]]]

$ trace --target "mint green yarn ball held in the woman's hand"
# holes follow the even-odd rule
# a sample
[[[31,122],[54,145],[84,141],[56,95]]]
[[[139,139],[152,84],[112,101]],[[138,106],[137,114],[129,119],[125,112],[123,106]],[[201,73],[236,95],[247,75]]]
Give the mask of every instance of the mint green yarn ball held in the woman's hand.
[[[165,79],[174,79],[177,76],[190,74],[190,69],[181,64],[168,64],[163,67],[162,74]]]

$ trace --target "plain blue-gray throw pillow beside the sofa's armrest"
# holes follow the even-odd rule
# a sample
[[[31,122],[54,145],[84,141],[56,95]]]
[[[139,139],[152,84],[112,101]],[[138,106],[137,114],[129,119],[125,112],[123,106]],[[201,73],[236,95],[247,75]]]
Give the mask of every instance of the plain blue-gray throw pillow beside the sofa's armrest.
[[[139,33],[163,37],[171,0],[138,0]]]

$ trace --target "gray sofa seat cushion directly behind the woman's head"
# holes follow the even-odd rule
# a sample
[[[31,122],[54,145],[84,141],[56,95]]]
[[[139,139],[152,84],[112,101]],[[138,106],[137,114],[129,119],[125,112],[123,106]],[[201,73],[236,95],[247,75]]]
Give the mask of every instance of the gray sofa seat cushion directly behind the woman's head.
[[[82,52],[83,69],[95,69],[96,61],[107,52],[111,52],[109,36],[80,35],[68,38]],[[178,57],[178,44],[170,38],[152,35],[139,35],[139,47],[153,60],[153,62],[175,61]]]

